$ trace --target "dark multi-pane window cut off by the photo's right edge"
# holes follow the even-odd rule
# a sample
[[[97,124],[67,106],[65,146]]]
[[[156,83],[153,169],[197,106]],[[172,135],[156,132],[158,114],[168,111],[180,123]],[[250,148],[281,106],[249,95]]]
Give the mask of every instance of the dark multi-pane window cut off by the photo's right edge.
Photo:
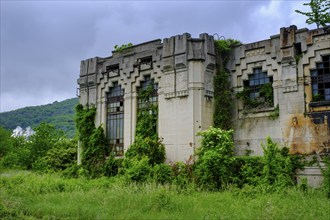
[[[322,62],[311,70],[313,101],[330,101],[330,55],[323,56]]]

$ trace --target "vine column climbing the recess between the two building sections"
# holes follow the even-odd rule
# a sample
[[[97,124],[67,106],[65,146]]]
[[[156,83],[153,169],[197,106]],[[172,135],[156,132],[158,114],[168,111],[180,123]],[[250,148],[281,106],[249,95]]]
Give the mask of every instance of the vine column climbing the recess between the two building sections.
[[[233,107],[232,89],[229,82],[229,71],[225,68],[232,48],[240,44],[233,39],[215,40],[216,75],[214,78],[214,127],[231,128],[231,112]]]

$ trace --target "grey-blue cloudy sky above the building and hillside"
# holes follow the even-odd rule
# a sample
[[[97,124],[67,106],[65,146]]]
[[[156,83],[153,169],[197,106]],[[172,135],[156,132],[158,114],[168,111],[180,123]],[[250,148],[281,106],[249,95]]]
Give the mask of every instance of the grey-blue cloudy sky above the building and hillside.
[[[314,28],[294,12],[302,0],[1,0],[0,112],[76,96],[80,61],[110,56],[114,45],[188,32],[243,43],[281,27]]]

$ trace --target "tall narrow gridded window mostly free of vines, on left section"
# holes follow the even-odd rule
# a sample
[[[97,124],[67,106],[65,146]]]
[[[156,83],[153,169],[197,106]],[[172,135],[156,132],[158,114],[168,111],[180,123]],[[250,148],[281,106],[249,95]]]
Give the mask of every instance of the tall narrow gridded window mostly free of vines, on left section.
[[[117,82],[107,93],[107,138],[110,152],[124,155],[124,90]]]

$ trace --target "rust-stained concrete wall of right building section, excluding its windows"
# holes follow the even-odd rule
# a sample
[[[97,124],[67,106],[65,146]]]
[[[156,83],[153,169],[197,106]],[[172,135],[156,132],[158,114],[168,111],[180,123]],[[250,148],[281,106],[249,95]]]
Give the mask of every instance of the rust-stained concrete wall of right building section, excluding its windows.
[[[315,124],[313,115],[329,114],[330,103],[312,108],[310,72],[322,56],[330,54],[330,33],[323,29],[297,30],[295,26],[281,28],[280,34],[270,39],[240,45],[232,53],[228,69],[234,91],[243,90],[243,81],[253,73],[253,68],[262,68],[273,77],[274,107],[252,109],[243,114],[242,101],[236,100],[234,126],[238,154],[252,150],[262,154],[260,143],[270,136],[291,153],[321,153],[329,150],[330,133],[328,118]],[[269,118],[276,106],[279,117]]]

